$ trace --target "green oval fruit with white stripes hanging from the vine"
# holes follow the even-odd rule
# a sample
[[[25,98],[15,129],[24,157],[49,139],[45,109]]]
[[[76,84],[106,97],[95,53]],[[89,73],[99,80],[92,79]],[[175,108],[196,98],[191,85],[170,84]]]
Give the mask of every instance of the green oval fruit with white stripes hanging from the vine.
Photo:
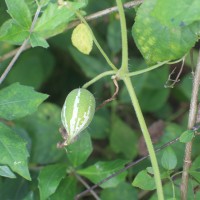
[[[88,127],[95,112],[95,99],[88,90],[79,88],[72,90],[65,100],[61,112],[63,126],[67,131],[67,145]]]

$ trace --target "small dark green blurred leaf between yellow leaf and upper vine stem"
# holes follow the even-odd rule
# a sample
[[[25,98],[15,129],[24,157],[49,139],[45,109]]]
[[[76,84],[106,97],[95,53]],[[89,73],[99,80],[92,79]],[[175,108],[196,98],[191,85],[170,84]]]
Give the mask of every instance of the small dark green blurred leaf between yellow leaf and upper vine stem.
[[[121,31],[119,20],[114,20],[108,26],[107,33],[108,45],[113,53],[118,53],[121,50]]]

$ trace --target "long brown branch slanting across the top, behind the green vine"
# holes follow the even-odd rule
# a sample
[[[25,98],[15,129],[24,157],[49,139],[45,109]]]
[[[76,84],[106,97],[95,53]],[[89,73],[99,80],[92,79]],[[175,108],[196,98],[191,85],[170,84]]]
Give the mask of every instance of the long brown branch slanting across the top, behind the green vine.
[[[141,3],[143,2],[143,0],[136,0],[136,1],[130,1],[130,2],[127,2],[124,4],[124,8],[126,9],[130,9],[130,8],[133,8],[133,7],[136,7],[138,5],[140,5]],[[88,15],[85,17],[85,19],[87,21],[91,21],[91,20],[94,20],[94,19],[97,19],[97,18],[100,18],[100,17],[103,17],[103,16],[106,16],[106,15],[109,15],[113,12],[116,12],[117,11],[117,6],[114,6],[114,7],[111,7],[111,8],[107,8],[105,10],[102,10],[102,11],[99,11],[99,12],[96,12],[94,14],[91,14],[91,15]],[[77,20],[77,21],[74,21],[74,22],[71,22],[70,24],[67,25],[67,28],[65,31],[75,27],[77,24],[79,24],[80,21]],[[48,39],[48,38],[46,38]],[[26,46],[23,51],[27,50],[31,48],[30,45]],[[4,60],[7,60],[8,58],[11,58],[13,57],[17,52],[19,51],[19,48],[17,49],[14,49],[6,54],[4,54],[3,56],[0,56],[0,63],[3,62]]]

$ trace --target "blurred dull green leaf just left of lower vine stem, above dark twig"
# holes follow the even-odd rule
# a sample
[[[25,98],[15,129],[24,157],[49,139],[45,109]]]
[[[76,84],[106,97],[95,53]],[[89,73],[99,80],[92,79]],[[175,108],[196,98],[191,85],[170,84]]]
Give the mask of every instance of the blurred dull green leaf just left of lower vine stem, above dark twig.
[[[138,150],[138,137],[136,133],[119,118],[114,119],[111,127],[110,146],[116,153],[123,153],[125,158],[133,159]]]

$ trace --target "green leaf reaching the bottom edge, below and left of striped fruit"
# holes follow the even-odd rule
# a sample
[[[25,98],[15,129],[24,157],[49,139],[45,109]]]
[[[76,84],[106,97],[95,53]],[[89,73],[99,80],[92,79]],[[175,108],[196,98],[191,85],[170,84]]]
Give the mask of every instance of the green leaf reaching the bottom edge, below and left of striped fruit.
[[[56,191],[59,183],[65,177],[65,175],[65,164],[49,165],[42,168],[38,177],[40,199],[48,199],[48,197]]]

